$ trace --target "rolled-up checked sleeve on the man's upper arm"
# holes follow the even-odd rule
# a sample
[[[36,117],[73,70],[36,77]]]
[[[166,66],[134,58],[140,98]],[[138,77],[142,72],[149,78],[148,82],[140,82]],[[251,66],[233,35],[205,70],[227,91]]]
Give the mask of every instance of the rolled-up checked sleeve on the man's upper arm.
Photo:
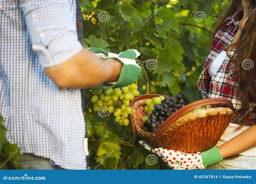
[[[21,0],[32,43],[43,67],[72,58],[83,46],[77,37],[75,12],[68,0]]]

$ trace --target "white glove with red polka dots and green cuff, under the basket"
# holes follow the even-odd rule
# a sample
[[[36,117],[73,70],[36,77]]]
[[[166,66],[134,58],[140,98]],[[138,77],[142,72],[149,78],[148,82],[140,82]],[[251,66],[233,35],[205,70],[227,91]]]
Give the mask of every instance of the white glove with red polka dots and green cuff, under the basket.
[[[152,148],[145,140],[140,140],[139,144],[146,148],[146,150],[156,153],[173,169],[205,169],[207,166],[223,160],[216,146],[201,153],[183,153],[177,150],[169,150],[161,147]]]

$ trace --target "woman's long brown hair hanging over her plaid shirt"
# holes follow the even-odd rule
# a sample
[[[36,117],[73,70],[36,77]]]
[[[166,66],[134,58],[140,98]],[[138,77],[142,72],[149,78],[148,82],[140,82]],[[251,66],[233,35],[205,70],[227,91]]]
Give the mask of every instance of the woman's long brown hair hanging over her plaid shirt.
[[[255,80],[255,61],[256,61],[256,2],[250,1],[250,13],[246,16],[247,20],[241,30],[241,35],[237,43],[231,44],[227,47],[227,51],[232,47],[237,48],[235,56],[228,55],[229,58],[237,66],[237,74],[239,85],[239,97],[241,98],[241,113],[246,115],[242,119],[241,125],[247,125],[248,115],[251,114],[249,102],[255,102],[256,80]],[[224,24],[225,20],[234,15],[234,13],[242,7],[242,0],[233,0],[230,8],[226,11],[223,18],[217,23],[215,32]],[[240,22],[242,22],[240,20]],[[255,107],[254,107],[255,108]],[[255,120],[254,120],[255,121]]]

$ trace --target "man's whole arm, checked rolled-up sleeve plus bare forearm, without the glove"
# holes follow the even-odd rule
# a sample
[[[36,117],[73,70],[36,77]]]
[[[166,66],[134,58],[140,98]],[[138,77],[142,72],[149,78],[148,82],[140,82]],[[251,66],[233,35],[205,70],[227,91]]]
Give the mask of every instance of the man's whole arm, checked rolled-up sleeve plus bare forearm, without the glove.
[[[87,88],[118,79],[119,62],[104,62],[79,43],[68,0],[21,0],[20,6],[32,49],[58,86]]]

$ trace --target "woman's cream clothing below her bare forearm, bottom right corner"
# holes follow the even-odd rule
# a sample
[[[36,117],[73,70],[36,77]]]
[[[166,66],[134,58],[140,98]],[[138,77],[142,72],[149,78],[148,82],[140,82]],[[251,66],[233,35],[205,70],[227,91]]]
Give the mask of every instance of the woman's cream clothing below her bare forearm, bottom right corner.
[[[224,159],[216,164],[208,166],[206,169],[256,169],[256,156],[245,156],[235,159]]]

